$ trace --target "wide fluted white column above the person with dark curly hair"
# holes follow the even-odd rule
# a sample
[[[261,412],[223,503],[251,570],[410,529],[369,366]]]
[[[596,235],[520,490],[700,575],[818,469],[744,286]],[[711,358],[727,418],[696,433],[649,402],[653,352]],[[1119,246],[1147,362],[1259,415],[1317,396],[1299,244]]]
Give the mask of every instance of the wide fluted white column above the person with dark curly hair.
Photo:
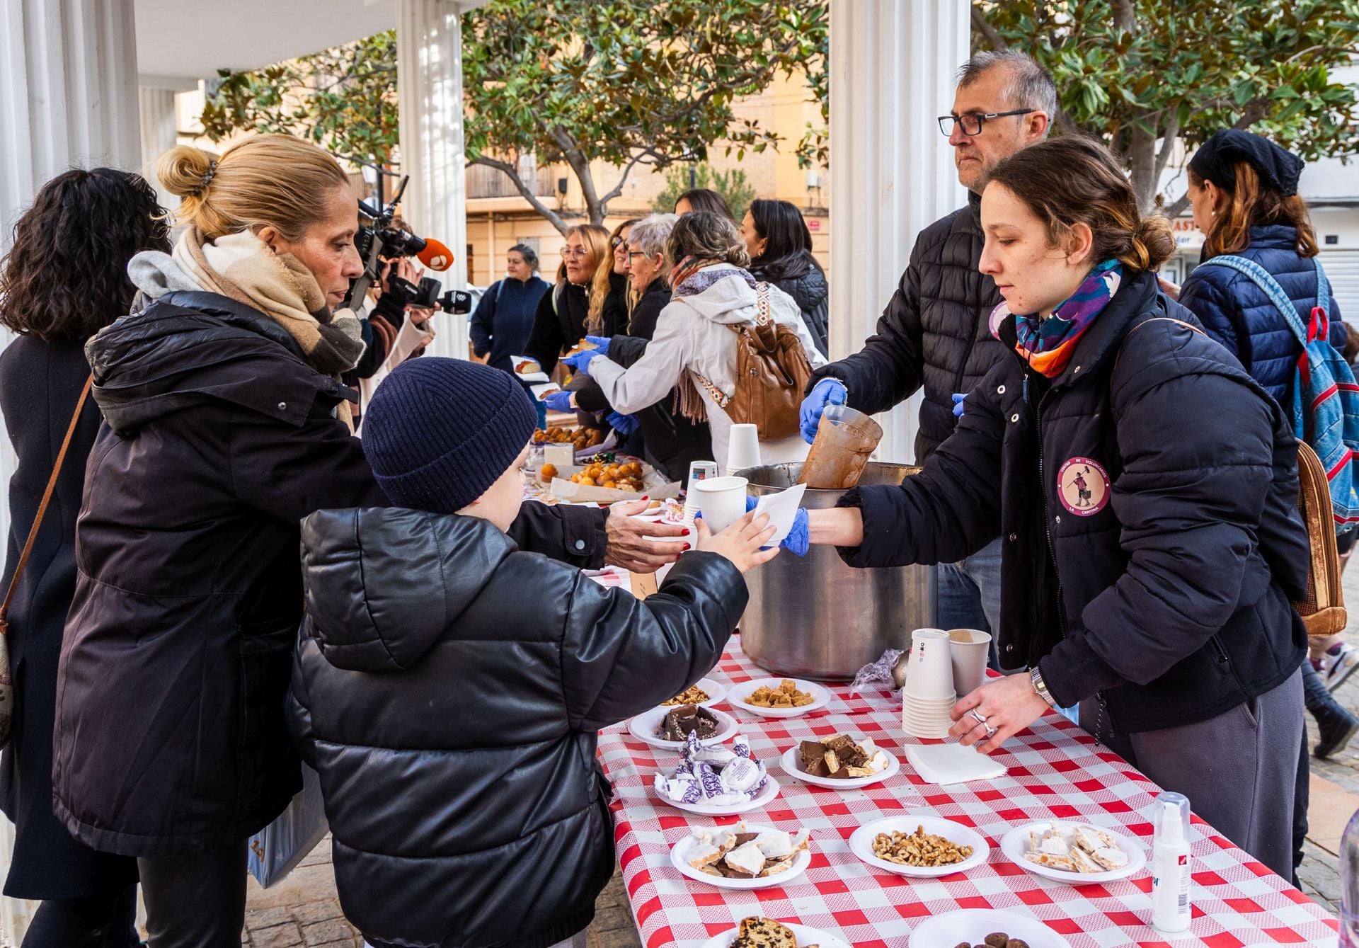
[[[0,250],[48,180],[141,163],[132,11],[130,0],[0,4]]]

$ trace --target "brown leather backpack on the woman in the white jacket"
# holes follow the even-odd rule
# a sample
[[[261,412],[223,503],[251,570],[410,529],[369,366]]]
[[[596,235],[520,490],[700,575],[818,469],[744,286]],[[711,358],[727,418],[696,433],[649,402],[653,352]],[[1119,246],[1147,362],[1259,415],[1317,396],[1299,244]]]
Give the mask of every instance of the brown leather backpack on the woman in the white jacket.
[[[796,332],[769,314],[769,284],[756,284],[756,325],[730,326],[737,333],[737,390],[730,397],[694,373],[733,424],[754,424],[760,441],[798,433],[802,392],[811,379],[811,363]]]

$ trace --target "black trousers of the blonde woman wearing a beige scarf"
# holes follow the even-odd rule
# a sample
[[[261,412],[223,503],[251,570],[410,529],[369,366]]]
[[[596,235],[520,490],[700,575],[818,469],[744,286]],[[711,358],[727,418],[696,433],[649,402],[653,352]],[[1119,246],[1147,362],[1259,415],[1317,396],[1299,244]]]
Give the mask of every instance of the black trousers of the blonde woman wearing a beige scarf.
[[[193,856],[139,858],[151,948],[241,948],[246,841]]]

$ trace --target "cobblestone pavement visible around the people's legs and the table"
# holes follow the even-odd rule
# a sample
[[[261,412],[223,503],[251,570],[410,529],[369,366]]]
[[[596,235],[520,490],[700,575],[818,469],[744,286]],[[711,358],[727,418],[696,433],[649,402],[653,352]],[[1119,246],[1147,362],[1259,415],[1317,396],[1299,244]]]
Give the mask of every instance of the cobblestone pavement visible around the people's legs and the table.
[[[1345,601],[1359,613],[1359,566],[1345,573]],[[1359,622],[1355,623],[1359,628]],[[1359,635],[1355,635],[1359,645]],[[1359,714],[1359,673],[1336,691],[1336,699]],[[1317,724],[1306,715],[1309,745]],[[1359,737],[1329,760],[1311,758],[1311,802],[1307,843],[1298,869],[1302,890],[1332,911],[1340,910],[1339,851],[1345,823],[1359,811]],[[363,938],[344,921],[336,899],[329,836],[302,865],[269,891],[250,880],[246,932],[251,948],[361,948]],[[588,948],[640,948],[621,873],[595,903]]]

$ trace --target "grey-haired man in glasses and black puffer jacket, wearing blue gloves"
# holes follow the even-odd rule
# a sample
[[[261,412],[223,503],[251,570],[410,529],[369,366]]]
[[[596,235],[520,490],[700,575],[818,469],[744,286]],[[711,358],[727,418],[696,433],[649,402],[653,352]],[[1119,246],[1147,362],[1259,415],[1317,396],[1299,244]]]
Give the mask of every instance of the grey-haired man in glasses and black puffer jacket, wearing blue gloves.
[[[881,412],[921,388],[916,464],[953,433],[966,393],[1006,355],[987,325],[1000,294],[977,271],[981,190],[1004,158],[1048,136],[1056,109],[1052,76],[1023,53],[978,53],[959,69],[953,112],[939,117],[939,129],[953,146],[958,181],[972,192],[968,205],[916,238],[911,265],[863,350],[813,373],[802,403],[803,438],[813,441],[828,404]],[[999,628],[1000,548],[996,539],[938,567],[940,627]],[[999,664],[1012,662],[999,656]]]

